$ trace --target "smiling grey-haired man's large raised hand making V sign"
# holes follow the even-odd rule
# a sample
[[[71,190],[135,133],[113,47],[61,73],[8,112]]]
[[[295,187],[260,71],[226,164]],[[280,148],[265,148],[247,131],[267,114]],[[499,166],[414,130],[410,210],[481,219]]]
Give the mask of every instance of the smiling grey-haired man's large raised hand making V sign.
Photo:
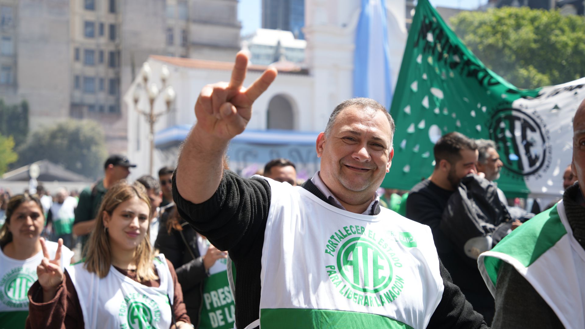
[[[247,56],[238,53],[229,83],[209,84],[201,90],[195,104],[199,129],[225,141],[244,131],[252,116],[252,103],[277,76],[276,68],[268,68],[250,87],[245,88],[242,84],[247,64]]]

